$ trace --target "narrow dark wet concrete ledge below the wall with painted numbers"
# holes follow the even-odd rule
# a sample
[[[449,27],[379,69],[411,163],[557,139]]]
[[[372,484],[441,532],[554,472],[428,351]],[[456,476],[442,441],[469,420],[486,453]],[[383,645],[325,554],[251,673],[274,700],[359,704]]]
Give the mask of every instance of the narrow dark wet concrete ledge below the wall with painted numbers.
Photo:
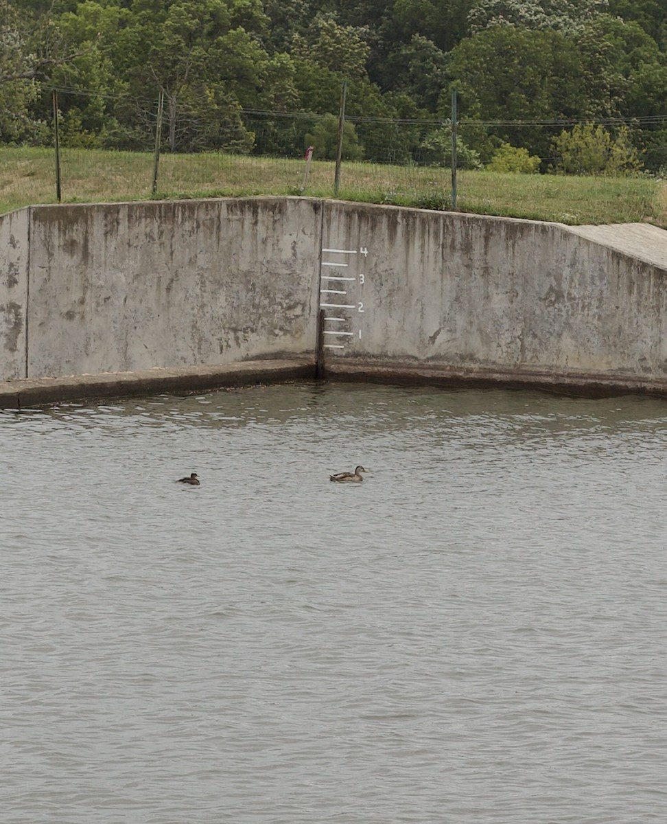
[[[394,383],[406,386],[534,389],[584,397],[631,394],[667,397],[667,379],[609,373],[543,372],[536,369],[509,371],[429,366],[423,363],[387,364],[352,358],[338,358],[326,363],[324,377],[338,381]]]

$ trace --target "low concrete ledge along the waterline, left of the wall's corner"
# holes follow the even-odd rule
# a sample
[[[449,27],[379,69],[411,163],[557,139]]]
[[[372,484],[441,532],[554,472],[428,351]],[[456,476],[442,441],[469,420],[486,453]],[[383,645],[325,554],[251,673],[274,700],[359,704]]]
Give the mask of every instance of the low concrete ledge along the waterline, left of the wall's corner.
[[[70,400],[155,395],[159,392],[210,391],[225,386],[251,386],[312,377],[315,377],[315,363],[296,360],[259,360],[224,366],[40,377],[0,382],[0,409],[25,409]]]

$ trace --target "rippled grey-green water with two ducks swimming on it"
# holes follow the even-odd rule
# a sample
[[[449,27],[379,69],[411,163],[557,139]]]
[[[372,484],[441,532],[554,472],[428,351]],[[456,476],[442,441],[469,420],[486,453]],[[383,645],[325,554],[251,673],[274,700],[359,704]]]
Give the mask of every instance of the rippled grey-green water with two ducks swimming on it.
[[[255,387],[0,448],[4,824],[665,821],[665,401]]]

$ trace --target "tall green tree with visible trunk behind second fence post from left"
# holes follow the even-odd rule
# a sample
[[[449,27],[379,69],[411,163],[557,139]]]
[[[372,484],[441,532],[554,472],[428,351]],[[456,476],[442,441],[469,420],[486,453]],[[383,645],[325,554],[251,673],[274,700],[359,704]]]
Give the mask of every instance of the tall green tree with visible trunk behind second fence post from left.
[[[134,0],[131,11],[129,87],[145,100],[164,92],[170,150],[247,151],[252,137],[239,109],[257,104],[269,62],[259,2]]]

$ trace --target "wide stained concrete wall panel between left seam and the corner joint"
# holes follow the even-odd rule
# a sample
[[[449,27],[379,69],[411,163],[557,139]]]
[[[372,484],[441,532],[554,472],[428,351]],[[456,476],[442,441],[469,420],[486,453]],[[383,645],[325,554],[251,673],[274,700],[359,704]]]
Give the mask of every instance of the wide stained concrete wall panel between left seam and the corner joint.
[[[31,209],[26,377],[312,353],[319,201]]]

